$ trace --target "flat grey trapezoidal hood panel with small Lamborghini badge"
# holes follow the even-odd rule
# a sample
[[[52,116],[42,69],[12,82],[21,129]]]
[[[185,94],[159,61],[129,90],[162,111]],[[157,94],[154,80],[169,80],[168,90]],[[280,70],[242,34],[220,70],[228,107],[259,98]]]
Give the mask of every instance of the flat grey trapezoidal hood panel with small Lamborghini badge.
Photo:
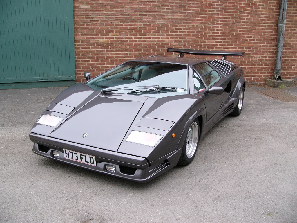
[[[97,96],[71,114],[49,136],[117,151],[143,103]]]

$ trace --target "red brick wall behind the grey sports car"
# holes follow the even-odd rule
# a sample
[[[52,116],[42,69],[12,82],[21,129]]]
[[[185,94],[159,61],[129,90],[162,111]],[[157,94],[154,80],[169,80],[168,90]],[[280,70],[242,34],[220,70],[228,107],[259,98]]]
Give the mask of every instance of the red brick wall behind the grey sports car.
[[[246,52],[229,57],[249,84],[273,78],[279,0],[74,0],[76,81],[166,49]],[[296,77],[297,2],[288,0],[282,78]],[[186,55],[193,57],[192,55]],[[195,56],[199,57],[199,56]]]

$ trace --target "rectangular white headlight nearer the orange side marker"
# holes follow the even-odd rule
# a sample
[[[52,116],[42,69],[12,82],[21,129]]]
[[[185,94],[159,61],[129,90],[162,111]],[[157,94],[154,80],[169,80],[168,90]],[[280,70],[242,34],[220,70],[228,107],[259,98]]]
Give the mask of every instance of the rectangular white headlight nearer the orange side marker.
[[[139,143],[147,146],[155,146],[162,137],[163,136],[152,134],[152,133],[132,131],[129,134],[126,141],[135,142],[135,143]]]

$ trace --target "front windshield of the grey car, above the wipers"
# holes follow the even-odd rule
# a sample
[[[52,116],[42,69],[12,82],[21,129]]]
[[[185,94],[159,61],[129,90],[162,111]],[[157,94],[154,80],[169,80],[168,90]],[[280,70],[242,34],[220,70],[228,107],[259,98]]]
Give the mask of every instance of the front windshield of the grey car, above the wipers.
[[[128,61],[91,79],[86,84],[97,91],[156,98],[187,94],[187,66]]]

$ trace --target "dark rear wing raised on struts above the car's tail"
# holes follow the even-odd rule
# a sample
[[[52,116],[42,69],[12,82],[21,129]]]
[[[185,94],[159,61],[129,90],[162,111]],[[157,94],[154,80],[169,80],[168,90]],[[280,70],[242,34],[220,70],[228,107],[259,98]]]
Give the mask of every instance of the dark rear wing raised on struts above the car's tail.
[[[209,51],[209,50],[187,50],[187,49],[174,49],[167,48],[167,52],[177,52],[178,57],[184,57],[184,54],[194,54],[202,56],[223,56],[222,60],[227,56],[244,56],[245,52],[227,52],[227,51]]]

